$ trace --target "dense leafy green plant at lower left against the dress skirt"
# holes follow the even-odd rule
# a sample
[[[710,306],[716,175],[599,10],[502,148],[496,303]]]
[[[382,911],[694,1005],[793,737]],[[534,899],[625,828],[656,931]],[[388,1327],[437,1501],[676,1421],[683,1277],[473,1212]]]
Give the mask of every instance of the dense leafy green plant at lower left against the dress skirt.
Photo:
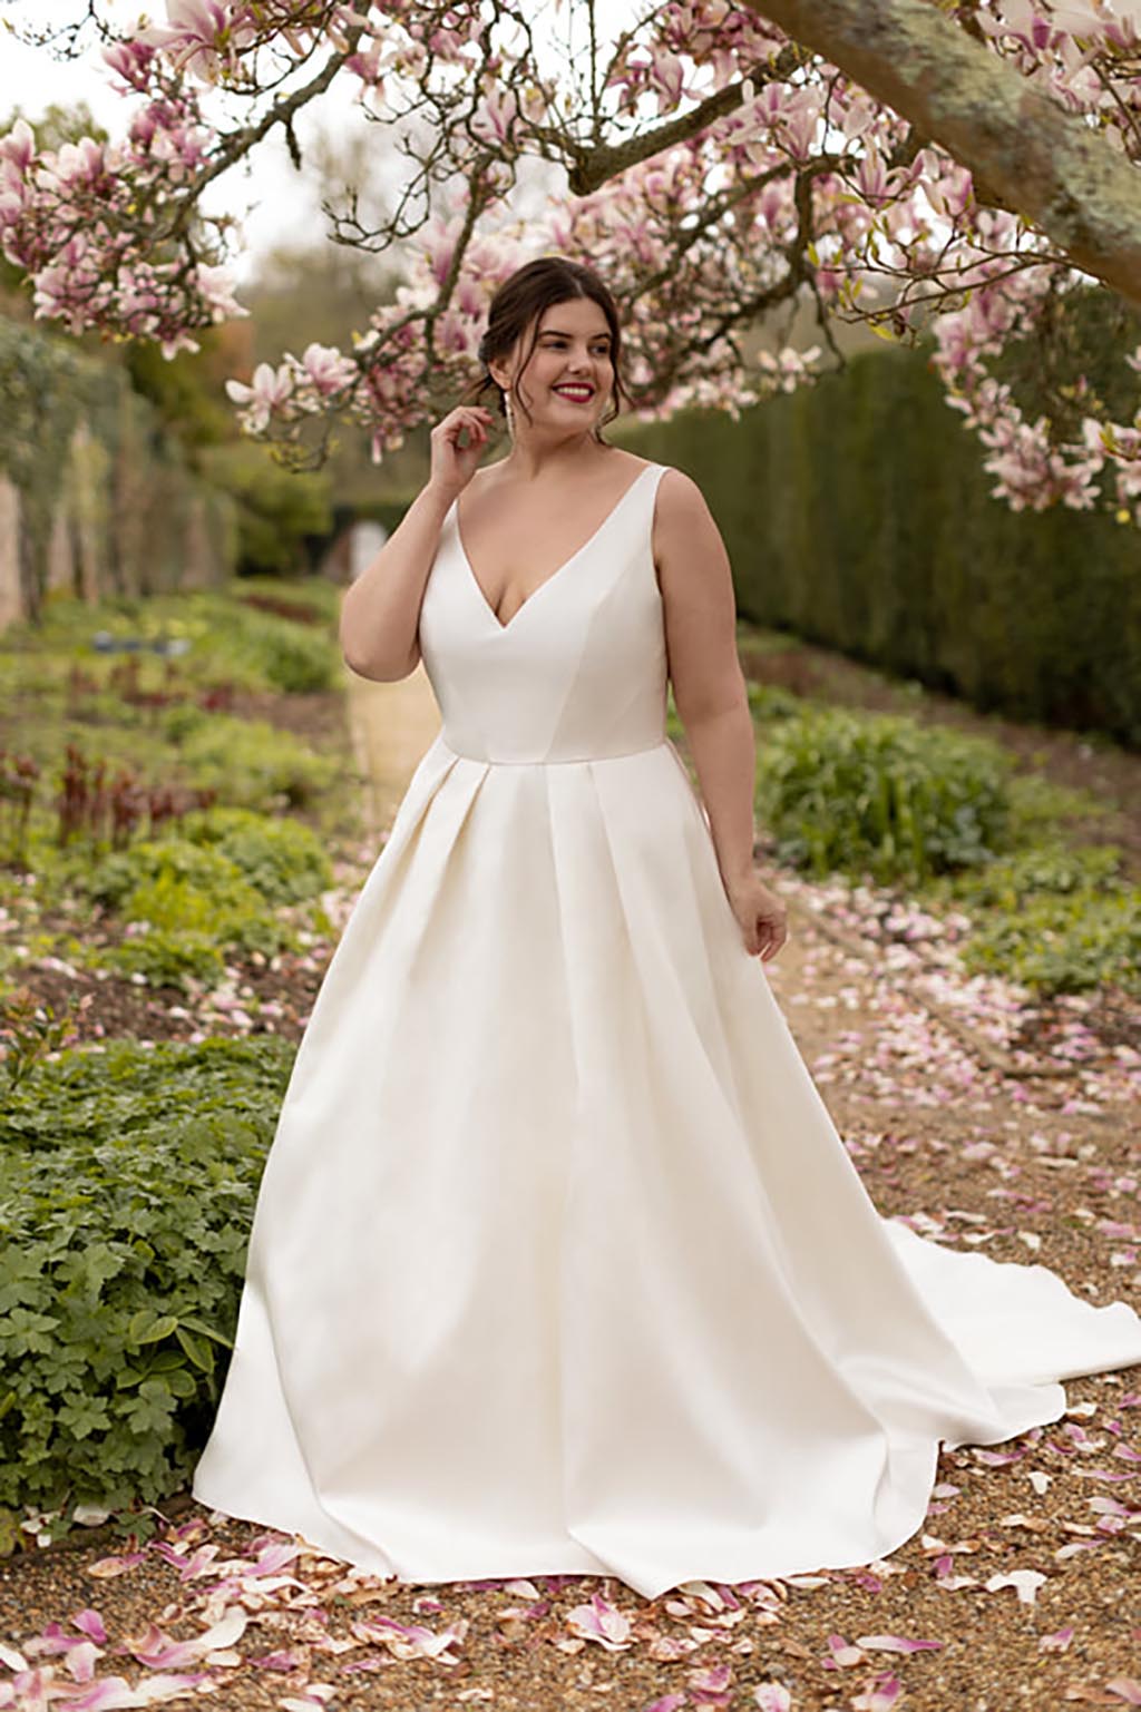
[[[185,1484],[293,1046],[62,1053],[0,1111],[0,1503]]]

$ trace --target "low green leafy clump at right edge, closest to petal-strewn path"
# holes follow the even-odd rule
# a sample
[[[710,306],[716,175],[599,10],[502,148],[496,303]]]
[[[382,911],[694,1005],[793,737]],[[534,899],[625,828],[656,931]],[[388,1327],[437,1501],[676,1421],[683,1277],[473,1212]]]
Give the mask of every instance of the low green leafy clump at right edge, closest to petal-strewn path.
[[[1112,983],[1141,995],[1141,887],[1079,885],[995,912],[965,942],[963,962],[1040,993]]]

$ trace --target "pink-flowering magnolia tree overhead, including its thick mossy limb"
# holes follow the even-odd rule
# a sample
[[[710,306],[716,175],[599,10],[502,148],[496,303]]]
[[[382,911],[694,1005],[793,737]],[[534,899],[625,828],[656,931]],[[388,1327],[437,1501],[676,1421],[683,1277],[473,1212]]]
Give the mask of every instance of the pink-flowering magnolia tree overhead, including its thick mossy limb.
[[[101,39],[122,139],[0,139],[3,253],[38,315],[166,354],[242,315],[202,193],[276,132],[296,159],[334,87],[399,166],[382,216],[349,188],[326,209],[334,241],[401,257],[396,300],[351,349],[230,383],[286,459],[338,419],[377,459],[399,445],[478,373],[499,282],[559,250],[615,291],[646,418],[792,390],[862,320],[930,337],[995,495],[1141,522],[1141,348],[1115,413],[1076,372],[1030,419],[1002,378],[1091,288],[1141,306],[1141,0],[166,0],[127,33],[87,9],[70,46]],[[528,159],[559,193],[523,223]],[[757,354],[749,330],[803,303],[819,344]]]

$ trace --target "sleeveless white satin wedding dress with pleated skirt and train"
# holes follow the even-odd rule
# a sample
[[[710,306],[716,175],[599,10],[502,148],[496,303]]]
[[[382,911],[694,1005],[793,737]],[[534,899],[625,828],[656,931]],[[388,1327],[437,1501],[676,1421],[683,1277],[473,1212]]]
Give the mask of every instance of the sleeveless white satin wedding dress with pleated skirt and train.
[[[663,466],[502,625],[451,508],[442,729],[302,1039],[194,1495],[408,1582],[869,1563],[939,1443],[1141,1318],[869,1198],[665,736]]]

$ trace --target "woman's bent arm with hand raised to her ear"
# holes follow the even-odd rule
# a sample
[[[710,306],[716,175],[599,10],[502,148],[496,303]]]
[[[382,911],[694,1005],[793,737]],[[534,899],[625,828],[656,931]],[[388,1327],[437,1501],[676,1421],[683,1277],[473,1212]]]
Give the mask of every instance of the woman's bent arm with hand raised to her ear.
[[[481,406],[451,411],[432,430],[432,474],[372,563],[341,601],[339,642],[346,666],[361,678],[391,683],[420,661],[420,603],[454,498],[476,471],[492,413]],[[468,443],[459,445],[466,430]]]

